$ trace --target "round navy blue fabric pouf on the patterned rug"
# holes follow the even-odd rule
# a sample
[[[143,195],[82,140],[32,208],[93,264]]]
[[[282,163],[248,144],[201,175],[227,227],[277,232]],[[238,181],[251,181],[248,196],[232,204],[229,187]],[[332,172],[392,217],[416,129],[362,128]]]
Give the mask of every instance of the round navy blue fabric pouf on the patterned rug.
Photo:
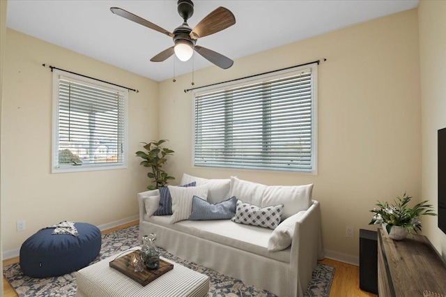
[[[20,248],[20,268],[31,277],[50,277],[77,271],[98,257],[101,234],[93,224],[76,222],[79,236],[52,234],[41,229]]]

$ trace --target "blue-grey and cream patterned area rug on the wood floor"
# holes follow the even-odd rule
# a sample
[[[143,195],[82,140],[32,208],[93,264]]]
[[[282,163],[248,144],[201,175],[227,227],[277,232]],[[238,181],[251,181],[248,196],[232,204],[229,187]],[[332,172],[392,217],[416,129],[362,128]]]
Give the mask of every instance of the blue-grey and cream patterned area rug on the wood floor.
[[[138,241],[138,226],[132,226],[110,234],[102,235],[102,246],[98,257],[91,264],[105,259],[114,254],[118,254],[129,248],[140,245]],[[274,297],[268,291],[257,289],[244,284],[227,275],[222,275],[206,267],[194,264],[190,261],[180,259],[174,254],[160,249],[164,258],[171,259],[199,273],[209,276],[210,290],[209,296],[229,296],[229,297]],[[22,273],[20,264],[11,264],[3,268],[3,275],[11,284],[20,297],[28,296],[54,296],[54,297],[74,297],[76,296],[75,273],[68,273],[59,277],[33,278]],[[325,297],[330,294],[330,287],[334,275],[334,267],[325,264],[318,264],[313,272],[312,282],[309,284],[305,296]]]

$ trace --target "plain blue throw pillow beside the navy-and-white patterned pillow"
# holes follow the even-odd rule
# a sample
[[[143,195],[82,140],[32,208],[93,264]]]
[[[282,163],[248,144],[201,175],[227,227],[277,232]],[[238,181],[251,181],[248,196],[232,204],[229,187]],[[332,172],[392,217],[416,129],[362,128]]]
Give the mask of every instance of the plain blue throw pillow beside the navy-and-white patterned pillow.
[[[236,215],[236,204],[236,197],[211,204],[194,196],[192,198],[192,213],[189,220],[229,220]]]

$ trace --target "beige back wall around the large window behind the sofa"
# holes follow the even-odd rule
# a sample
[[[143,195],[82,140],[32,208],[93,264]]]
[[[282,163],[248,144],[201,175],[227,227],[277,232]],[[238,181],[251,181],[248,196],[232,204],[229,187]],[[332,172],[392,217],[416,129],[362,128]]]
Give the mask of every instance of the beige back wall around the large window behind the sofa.
[[[203,46],[206,46],[203,39]],[[217,48],[213,50],[218,50]],[[224,53],[223,53],[224,54]],[[327,58],[318,68],[318,175],[192,167],[192,75],[160,83],[160,137],[176,151],[171,173],[268,185],[314,183],[327,255],[357,263],[359,229],[374,229],[377,199],[421,195],[417,10],[408,10],[194,73],[195,86]],[[346,225],[355,228],[346,238]]]

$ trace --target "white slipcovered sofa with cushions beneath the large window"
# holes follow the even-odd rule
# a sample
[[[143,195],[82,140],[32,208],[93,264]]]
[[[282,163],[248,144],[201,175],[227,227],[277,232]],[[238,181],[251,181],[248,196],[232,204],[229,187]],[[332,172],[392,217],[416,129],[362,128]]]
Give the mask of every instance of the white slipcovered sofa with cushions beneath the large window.
[[[259,207],[279,202],[284,205],[282,222],[274,230],[231,220],[172,224],[172,215],[152,215],[160,203],[160,192],[152,190],[138,194],[140,238],[155,233],[156,244],[178,257],[277,296],[303,296],[317,260],[323,259],[321,211],[312,200],[313,185],[266,186],[236,177],[208,180],[187,174],[180,184],[192,181],[207,187],[204,198],[212,204],[232,196]]]

